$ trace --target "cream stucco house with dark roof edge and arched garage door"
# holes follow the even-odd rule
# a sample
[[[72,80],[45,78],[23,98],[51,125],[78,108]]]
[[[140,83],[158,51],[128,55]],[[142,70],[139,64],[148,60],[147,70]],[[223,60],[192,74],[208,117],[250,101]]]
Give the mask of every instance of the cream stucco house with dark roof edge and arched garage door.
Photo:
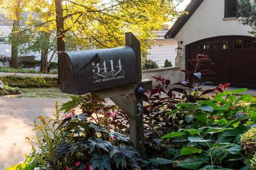
[[[230,82],[256,89],[256,39],[248,33],[252,28],[242,25],[238,8],[237,0],[192,0],[185,9],[189,14],[178,18],[164,36],[183,42],[175,66],[193,70],[188,60],[205,54],[214,65],[204,69],[216,73],[216,85]]]

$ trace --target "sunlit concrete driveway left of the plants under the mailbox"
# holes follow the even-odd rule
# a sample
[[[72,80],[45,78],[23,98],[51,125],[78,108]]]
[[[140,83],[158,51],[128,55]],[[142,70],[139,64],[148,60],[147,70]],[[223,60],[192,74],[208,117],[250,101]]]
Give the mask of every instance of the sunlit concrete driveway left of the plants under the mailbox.
[[[71,99],[0,98],[0,170],[24,162],[31,152],[26,137],[35,137],[34,119],[53,117],[55,102],[59,105]]]

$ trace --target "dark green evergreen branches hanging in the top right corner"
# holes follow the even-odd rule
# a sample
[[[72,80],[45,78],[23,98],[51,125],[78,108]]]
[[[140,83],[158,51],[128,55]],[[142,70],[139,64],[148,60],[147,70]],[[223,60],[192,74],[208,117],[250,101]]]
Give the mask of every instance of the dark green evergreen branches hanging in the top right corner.
[[[239,12],[242,14],[242,24],[249,25],[253,31],[249,31],[252,36],[256,36],[256,2],[251,0],[238,0],[240,4]]]

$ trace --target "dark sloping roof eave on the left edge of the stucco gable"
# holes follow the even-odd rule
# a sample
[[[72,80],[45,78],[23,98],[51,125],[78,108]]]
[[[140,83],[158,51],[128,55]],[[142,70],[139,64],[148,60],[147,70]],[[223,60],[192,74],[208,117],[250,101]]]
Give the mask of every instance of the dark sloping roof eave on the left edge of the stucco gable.
[[[189,20],[189,18],[194,14],[197,8],[202,4],[203,1],[204,0],[191,0],[191,2],[184,10],[188,12],[188,14],[185,13],[181,17],[179,17],[169,29],[169,31],[167,31],[166,35],[164,35],[164,38],[174,38],[178,34],[180,29],[182,29],[182,27]]]

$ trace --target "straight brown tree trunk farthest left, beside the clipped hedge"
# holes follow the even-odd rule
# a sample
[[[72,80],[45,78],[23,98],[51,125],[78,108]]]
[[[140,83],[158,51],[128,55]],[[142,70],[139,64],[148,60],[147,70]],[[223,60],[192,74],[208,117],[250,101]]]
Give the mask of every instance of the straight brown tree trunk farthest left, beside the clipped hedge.
[[[12,23],[12,33],[18,27],[18,21],[13,20]],[[18,60],[18,41],[15,39],[12,41],[12,58],[11,58],[11,68],[18,68],[19,67],[19,60]]]

